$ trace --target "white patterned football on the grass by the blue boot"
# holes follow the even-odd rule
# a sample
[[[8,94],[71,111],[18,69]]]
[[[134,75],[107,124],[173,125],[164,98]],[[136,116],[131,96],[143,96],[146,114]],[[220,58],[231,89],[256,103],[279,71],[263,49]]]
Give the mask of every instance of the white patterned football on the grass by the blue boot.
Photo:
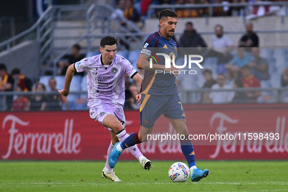
[[[190,170],[185,163],[176,162],[170,166],[168,173],[173,182],[185,182],[189,178]]]

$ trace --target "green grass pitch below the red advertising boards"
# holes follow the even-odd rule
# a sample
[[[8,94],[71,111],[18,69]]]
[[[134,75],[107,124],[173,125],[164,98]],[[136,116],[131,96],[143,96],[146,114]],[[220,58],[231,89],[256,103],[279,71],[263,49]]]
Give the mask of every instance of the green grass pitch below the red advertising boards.
[[[200,182],[173,183],[175,161],[152,161],[144,170],[136,161],[119,161],[114,171],[123,181],[101,176],[104,161],[0,161],[0,191],[288,191],[287,161],[197,161],[210,175]]]

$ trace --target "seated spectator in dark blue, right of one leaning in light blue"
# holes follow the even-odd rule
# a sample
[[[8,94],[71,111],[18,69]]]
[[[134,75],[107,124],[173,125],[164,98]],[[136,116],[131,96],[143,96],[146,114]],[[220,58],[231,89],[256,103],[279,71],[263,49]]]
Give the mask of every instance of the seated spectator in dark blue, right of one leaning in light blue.
[[[251,52],[254,59],[248,65],[251,67],[253,76],[257,77],[260,81],[268,80],[270,76],[267,59],[260,57],[259,47],[253,47]]]

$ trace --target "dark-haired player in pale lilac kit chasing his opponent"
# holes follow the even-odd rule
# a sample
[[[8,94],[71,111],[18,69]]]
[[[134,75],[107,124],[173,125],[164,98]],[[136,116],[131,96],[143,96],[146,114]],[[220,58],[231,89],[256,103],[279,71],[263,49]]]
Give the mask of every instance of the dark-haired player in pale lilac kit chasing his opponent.
[[[111,181],[121,181],[109,166],[108,157],[113,146],[129,136],[125,130],[123,104],[125,100],[125,74],[141,85],[142,77],[131,63],[120,55],[116,55],[117,38],[107,36],[100,42],[101,54],[83,58],[70,65],[65,76],[64,88],[58,91],[68,96],[74,72],[87,72],[88,107],[90,117],[103,124],[110,131],[111,143],[107,151],[107,160],[102,177]],[[137,95],[140,102],[140,95]],[[128,148],[143,166],[150,170],[151,161],[142,155],[136,145]]]

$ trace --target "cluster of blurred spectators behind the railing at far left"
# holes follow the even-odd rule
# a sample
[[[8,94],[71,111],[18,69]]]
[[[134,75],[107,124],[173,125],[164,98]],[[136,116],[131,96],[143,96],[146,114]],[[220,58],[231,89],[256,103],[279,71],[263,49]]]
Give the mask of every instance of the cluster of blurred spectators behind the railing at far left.
[[[43,83],[33,84],[30,78],[21,74],[19,68],[12,69],[9,74],[6,65],[0,63],[0,91],[17,92],[15,95],[1,96],[0,106],[3,106],[5,102],[6,111],[62,110],[62,105],[69,109],[66,98],[58,94],[56,86],[56,80],[51,77],[49,79],[51,91],[47,93]],[[25,92],[26,94],[21,94]],[[28,94],[28,92],[33,94]]]

